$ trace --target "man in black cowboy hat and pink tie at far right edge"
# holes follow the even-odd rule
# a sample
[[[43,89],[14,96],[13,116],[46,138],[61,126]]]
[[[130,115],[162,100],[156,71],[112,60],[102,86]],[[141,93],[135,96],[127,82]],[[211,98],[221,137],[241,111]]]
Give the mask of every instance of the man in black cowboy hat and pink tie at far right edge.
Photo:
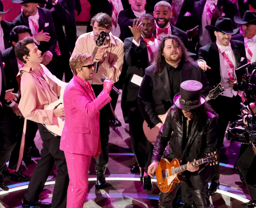
[[[256,61],[256,12],[247,10],[243,19],[234,17],[235,23],[242,24],[242,33],[234,35],[232,40],[240,40],[245,44],[248,63]]]

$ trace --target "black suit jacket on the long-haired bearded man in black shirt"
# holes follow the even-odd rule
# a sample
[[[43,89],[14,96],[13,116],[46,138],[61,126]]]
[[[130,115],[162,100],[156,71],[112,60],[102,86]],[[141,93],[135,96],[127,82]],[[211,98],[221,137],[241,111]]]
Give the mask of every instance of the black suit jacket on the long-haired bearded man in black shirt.
[[[171,84],[166,66],[161,73],[154,76],[155,64],[145,70],[138,93],[138,105],[141,114],[150,128],[158,124],[160,119],[157,115],[165,114],[173,105]],[[208,95],[209,84],[204,71],[194,61],[184,63],[181,69],[181,82],[186,80],[197,80],[203,84],[202,94]]]

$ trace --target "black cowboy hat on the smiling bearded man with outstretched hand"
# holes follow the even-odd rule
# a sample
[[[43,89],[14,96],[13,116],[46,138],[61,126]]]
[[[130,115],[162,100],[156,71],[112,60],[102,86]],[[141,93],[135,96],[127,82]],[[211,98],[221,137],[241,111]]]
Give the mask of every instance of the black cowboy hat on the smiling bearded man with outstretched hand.
[[[233,30],[232,27],[233,23],[230,18],[220,17],[216,20],[215,26],[213,25],[206,25],[206,30],[216,30],[218,32],[223,32],[228,35],[234,35],[238,32],[239,28]]]

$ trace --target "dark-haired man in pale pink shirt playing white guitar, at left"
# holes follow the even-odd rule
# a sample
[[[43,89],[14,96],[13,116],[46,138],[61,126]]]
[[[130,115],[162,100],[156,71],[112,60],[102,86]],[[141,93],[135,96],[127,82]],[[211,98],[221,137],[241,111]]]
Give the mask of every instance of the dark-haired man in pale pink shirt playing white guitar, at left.
[[[18,107],[25,119],[38,123],[43,141],[41,159],[37,162],[29,187],[22,199],[22,207],[65,208],[69,177],[64,152],[59,149],[61,137],[48,131],[44,124],[58,126],[58,117],[64,116],[64,107],[55,110],[46,110],[46,107],[58,100],[61,86],[66,83],[56,78],[43,64],[40,64],[42,54],[32,37],[18,41],[15,46],[15,55],[25,63],[17,75],[21,90]],[[58,170],[52,203],[40,202],[39,194],[44,188],[54,163]]]

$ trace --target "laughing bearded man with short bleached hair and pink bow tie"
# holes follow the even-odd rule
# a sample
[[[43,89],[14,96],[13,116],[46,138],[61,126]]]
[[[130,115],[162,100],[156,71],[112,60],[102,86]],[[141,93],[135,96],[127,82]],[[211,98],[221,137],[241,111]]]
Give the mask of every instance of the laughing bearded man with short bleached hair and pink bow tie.
[[[154,34],[155,38],[163,40],[167,35],[176,35],[182,40],[185,47],[189,50],[190,46],[187,33],[169,23],[172,16],[173,13],[170,3],[166,1],[156,3],[154,7],[154,18],[157,23]]]

